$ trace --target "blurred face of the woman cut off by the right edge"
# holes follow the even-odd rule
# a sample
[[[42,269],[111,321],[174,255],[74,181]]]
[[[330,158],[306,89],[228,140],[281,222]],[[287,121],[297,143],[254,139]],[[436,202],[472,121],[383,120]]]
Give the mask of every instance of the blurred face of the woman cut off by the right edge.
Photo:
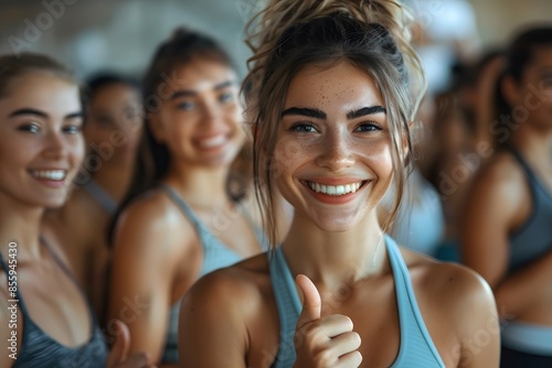
[[[518,107],[513,110],[513,118],[524,121],[524,110],[528,121],[535,127],[552,128],[552,46],[534,51],[533,61],[526,67],[521,82],[513,85],[510,105]],[[521,111],[519,116],[517,109]]]

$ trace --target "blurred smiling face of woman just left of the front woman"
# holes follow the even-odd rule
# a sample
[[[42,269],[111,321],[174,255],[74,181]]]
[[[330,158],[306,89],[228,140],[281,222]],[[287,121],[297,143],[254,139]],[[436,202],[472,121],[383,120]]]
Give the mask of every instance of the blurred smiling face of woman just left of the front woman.
[[[190,166],[226,166],[245,140],[237,77],[232,68],[193,58],[178,68],[171,89],[151,117],[156,139],[173,160]]]

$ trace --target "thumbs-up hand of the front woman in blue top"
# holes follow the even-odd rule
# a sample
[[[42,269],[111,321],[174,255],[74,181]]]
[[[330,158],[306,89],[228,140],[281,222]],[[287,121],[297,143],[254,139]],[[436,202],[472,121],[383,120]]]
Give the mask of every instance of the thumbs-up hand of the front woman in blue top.
[[[341,314],[320,317],[321,299],[312,281],[304,274],[296,278],[304,295],[302,311],[295,328],[295,368],[359,367],[362,361],[360,336],[352,321]]]

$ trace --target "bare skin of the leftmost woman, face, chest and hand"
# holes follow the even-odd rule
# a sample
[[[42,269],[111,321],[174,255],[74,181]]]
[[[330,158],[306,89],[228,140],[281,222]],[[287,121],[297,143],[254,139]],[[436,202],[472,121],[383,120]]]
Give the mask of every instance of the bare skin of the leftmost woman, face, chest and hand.
[[[46,207],[63,205],[84,156],[78,87],[40,72],[26,73],[11,84],[0,99],[0,250],[8,261],[8,243],[18,243],[18,290],[34,323],[60,344],[76,347],[89,339],[89,309],[77,285],[39,243],[39,235],[67,264],[55,232],[40,224]],[[44,180],[36,176],[38,170],[64,170],[66,175],[60,181]],[[4,301],[11,297],[6,270],[0,273],[0,337],[7,340]],[[24,323],[19,311],[19,348]],[[146,367],[145,355],[127,360],[128,334],[120,322],[114,328],[119,337],[108,367]],[[7,354],[0,355],[0,366],[13,362]]]

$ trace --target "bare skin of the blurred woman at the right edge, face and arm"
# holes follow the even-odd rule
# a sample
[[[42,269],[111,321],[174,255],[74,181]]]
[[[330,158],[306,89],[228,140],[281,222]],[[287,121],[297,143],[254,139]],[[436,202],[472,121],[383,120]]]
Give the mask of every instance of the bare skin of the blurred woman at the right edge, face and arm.
[[[552,47],[539,48],[520,82],[502,85],[510,106],[526,106],[523,123],[512,120],[508,137],[552,193]],[[535,95],[534,90],[539,90]],[[533,108],[530,108],[533,106]],[[508,274],[508,239],[530,218],[531,190],[519,163],[498,153],[478,175],[463,223],[464,262],[492,286],[502,317],[552,326],[552,252]]]

